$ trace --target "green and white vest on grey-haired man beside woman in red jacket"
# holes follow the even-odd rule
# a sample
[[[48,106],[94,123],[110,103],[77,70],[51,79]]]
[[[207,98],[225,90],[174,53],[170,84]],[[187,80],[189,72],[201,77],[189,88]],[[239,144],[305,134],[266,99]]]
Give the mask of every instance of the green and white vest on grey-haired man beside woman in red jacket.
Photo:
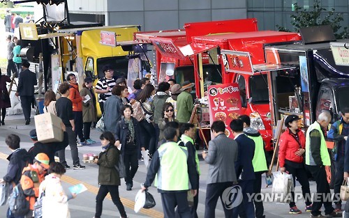
[[[325,137],[322,134],[320,124],[315,121],[311,124],[306,131],[306,165],[315,166],[315,162],[313,156],[311,155],[311,146],[310,146],[310,132],[311,130],[318,130],[321,135],[321,145],[320,145],[320,156],[322,160],[322,164],[324,166],[331,166],[331,159],[329,159],[329,153],[326,146]]]

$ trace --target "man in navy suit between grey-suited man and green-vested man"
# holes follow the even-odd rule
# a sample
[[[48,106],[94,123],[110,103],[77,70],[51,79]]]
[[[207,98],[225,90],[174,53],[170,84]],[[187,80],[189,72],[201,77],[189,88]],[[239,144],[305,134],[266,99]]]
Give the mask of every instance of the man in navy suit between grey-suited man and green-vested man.
[[[249,139],[244,134],[244,122],[240,119],[232,120],[230,129],[237,141],[238,153],[237,161],[235,162],[235,171],[237,173],[237,181],[242,187],[242,204],[233,208],[235,217],[239,214],[240,217],[254,218],[255,208],[252,199],[248,196],[253,194],[253,182],[255,180],[255,172],[253,170],[252,159],[255,154],[255,142]]]

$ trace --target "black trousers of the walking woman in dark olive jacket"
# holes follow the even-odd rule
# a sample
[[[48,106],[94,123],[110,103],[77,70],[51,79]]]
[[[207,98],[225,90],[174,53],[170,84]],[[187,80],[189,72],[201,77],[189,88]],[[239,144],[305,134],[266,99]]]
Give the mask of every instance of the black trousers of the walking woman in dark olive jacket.
[[[112,197],[112,202],[117,206],[121,217],[127,217],[124,205],[120,201],[119,197],[119,186],[118,185],[101,185],[98,189],[98,194],[96,196],[96,213],[94,217],[100,218],[103,210],[103,200],[107,194]]]

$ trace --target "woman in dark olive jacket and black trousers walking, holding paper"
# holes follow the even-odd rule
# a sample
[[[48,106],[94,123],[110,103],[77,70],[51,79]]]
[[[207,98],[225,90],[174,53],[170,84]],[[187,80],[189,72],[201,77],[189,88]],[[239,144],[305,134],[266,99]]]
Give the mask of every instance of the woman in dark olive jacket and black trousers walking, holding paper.
[[[121,218],[126,218],[124,205],[119,197],[119,171],[115,165],[119,162],[120,151],[114,146],[115,138],[112,132],[103,132],[101,134],[102,152],[98,155],[98,159],[94,162],[98,164],[98,194],[96,196],[96,213],[94,218],[101,218],[103,210],[103,200],[109,193],[112,202],[117,206]]]

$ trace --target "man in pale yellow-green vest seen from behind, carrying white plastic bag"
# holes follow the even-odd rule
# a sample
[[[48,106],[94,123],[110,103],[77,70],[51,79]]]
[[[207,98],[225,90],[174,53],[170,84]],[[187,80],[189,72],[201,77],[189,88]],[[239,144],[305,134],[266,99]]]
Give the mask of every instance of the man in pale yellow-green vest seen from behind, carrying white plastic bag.
[[[188,159],[188,150],[177,144],[178,129],[165,127],[163,134],[166,142],[154,153],[142,190],[156,179],[165,218],[175,217],[176,206],[180,217],[191,218],[187,192],[191,189],[195,196],[198,190],[195,165]]]

